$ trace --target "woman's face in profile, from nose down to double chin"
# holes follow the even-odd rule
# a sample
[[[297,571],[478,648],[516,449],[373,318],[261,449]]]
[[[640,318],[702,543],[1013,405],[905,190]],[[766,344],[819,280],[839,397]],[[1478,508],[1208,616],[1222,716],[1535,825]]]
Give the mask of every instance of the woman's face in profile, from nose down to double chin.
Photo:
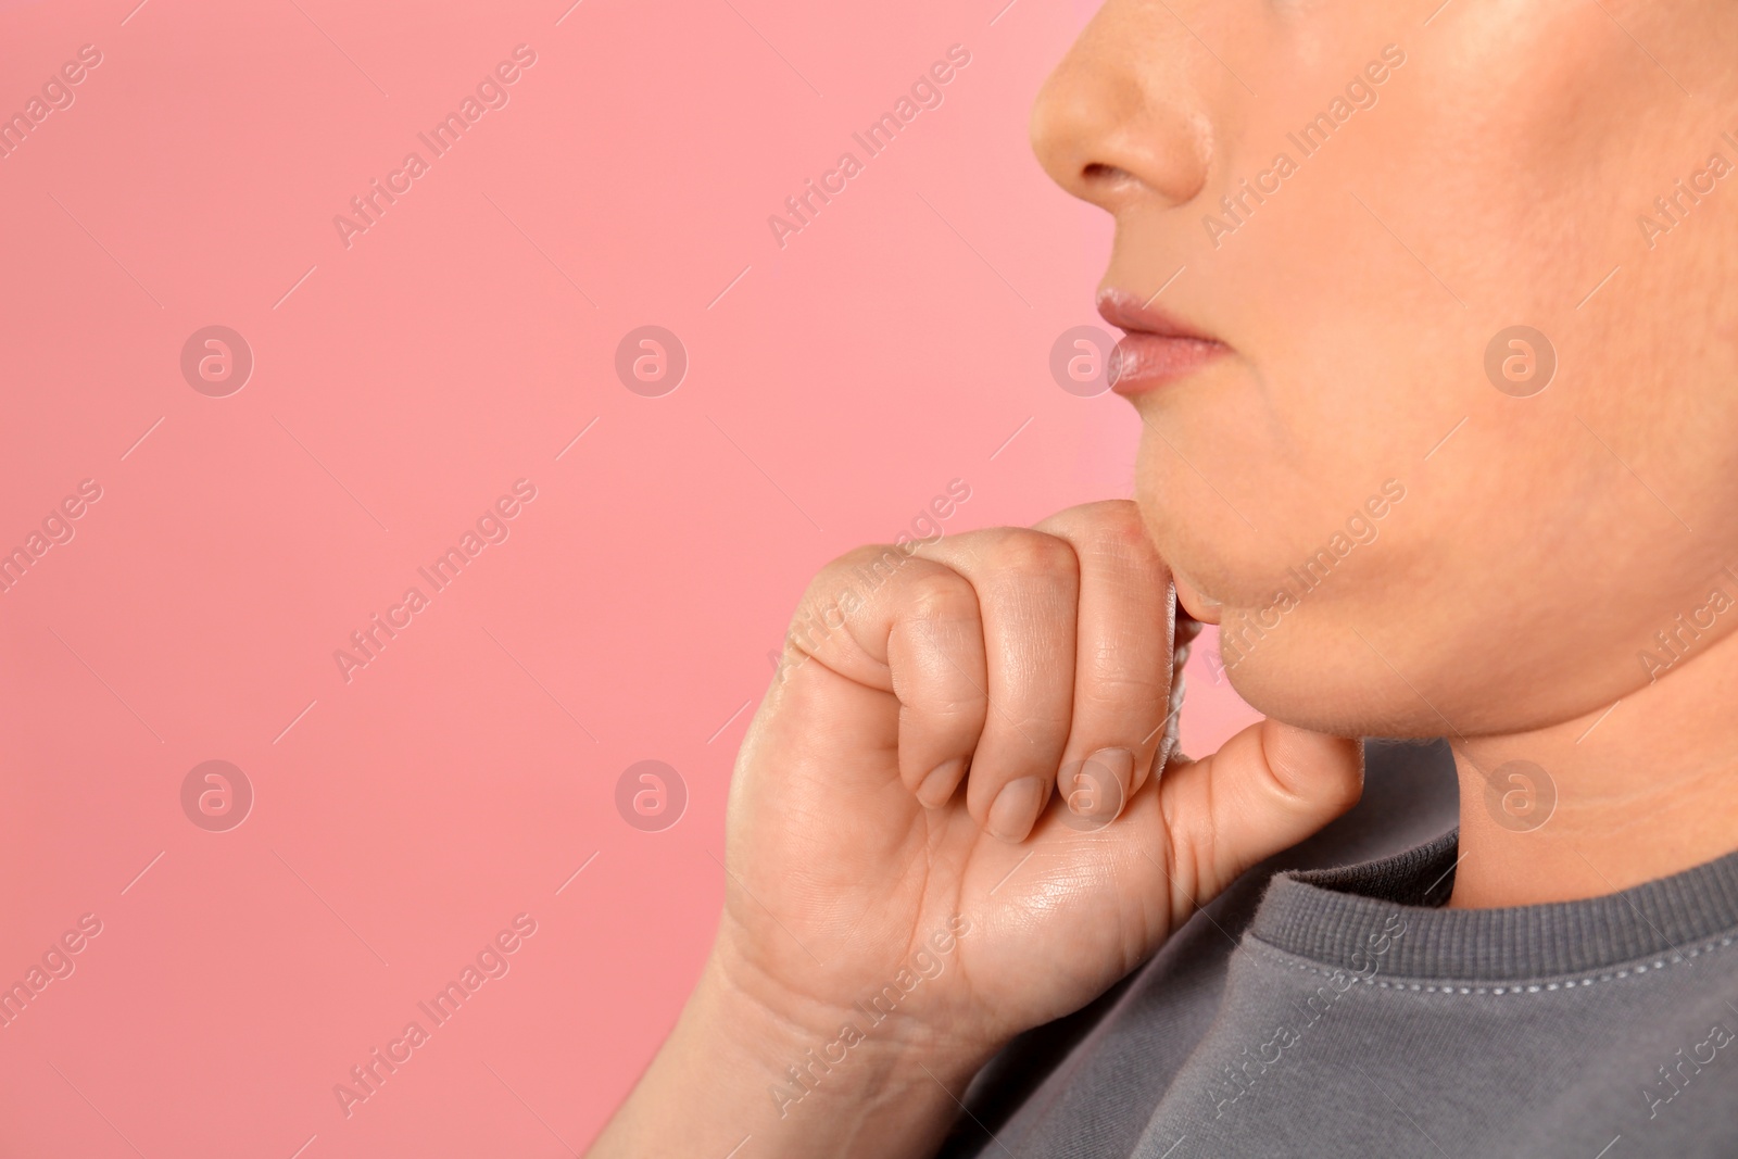
[[[1185,608],[1343,733],[1557,723],[1738,626],[1738,5],[1439,2],[1109,0],[1032,118],[1102,292],[1225,348],[1119,387]]]

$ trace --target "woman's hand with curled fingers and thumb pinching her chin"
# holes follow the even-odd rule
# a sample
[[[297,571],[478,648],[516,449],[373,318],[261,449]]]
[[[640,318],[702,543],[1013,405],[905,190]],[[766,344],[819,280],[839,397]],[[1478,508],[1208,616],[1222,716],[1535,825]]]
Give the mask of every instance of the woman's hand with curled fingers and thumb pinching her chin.
[[[1363,785],[1272,719],[1173,759],[1175,626],[1130,502],[829,565],[737,759],[711,968],[817,1053],[855,1023],[959,1074],[1104,992]]]

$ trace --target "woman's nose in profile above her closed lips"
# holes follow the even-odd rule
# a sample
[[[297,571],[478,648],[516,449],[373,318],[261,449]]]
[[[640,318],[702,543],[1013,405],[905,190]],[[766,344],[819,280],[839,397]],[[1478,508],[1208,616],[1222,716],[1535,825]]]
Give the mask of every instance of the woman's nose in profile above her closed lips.
[[[1111,214],[1192,200],[1215,146],[1201,56],[1168,5],[1109,0],[1032,106],[1032,149],[1051,181]]]

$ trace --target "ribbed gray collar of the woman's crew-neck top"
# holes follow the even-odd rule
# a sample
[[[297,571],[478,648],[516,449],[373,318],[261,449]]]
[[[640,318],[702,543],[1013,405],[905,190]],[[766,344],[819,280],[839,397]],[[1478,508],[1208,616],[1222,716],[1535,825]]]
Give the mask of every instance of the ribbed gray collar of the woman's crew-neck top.
[[[1397,857],[1272,879],[1250,933],[1343,970],[1403,978],[1521,982],[1595,973],[1700,950],[1738,930],[1738,853],[1672,878],[1582,902],[1443,909],[1458,832]],[[1392,937],[1394,917],[1406,926]],[[1354,957],[1356,956],[1356,957]]]

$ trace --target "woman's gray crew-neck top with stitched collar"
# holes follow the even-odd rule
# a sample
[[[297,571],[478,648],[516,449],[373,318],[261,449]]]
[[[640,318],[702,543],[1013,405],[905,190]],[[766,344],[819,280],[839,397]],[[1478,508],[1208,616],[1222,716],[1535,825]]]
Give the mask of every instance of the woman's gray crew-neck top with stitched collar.
[[[1449,911],[1456,810],[1444,745],[1373,742],[1356,810],[1010,1044],[940,1154],[1738,1156],[1738,853]]]

